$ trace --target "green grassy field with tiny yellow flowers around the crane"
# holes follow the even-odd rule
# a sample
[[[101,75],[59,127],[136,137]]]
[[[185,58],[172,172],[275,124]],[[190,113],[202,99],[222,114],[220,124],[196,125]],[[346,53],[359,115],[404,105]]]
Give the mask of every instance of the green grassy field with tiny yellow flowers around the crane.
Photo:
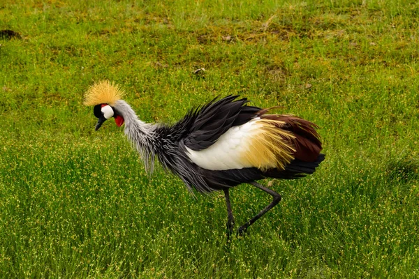
[[[405,0],[2,0],[0,278],[418,278],[418,19]],[[221,193],[94,132],[103,79],[144,121],[281,105],[321,126],[326,160],[273,181],[282,202],[227,244]],[[231,197],[238,224],[270,202]]]

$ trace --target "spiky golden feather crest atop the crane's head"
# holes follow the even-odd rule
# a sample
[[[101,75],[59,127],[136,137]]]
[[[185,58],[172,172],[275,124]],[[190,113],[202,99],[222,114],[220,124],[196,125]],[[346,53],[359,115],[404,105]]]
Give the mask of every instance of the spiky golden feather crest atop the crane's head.
[[[84,105],[108,104],[115,105],[117,100],[121,100],[124,91],[117,84],[113,84],[109,80],[95,82],[84,93]]]

